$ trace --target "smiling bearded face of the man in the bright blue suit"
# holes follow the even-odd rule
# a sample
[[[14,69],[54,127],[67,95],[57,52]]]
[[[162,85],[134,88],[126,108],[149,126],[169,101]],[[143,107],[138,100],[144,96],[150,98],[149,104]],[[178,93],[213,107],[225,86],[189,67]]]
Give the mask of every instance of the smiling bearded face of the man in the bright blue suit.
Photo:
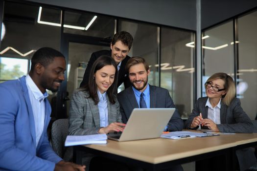
[[[39,64],[40,65],[40,64]],[[38,66],[40,67],[40,66]],[[46,67],[41,65],[39,89],[44,93],[46,89],[56,92],[64,81],[66,62],[63,57],[55,57]]]

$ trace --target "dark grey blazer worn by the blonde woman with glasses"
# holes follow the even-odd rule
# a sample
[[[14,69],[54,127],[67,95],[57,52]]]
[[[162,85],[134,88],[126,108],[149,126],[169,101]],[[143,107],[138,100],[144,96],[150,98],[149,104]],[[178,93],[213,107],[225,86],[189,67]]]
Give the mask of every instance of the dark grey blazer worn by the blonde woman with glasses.
[[[199,116],[200,113],[203,118],[208,118],[208,107],[205,106],[207,100],[208,97],[202,97],[196,101],[192,113],[185,123],[186,128],[190,127],[194,117]],[[220,123],[217,125],[220,132],[253,133],[254,131],[251,119],[244,112],[240,100],[237,98],[232,100],[230,106],[221,101]]]

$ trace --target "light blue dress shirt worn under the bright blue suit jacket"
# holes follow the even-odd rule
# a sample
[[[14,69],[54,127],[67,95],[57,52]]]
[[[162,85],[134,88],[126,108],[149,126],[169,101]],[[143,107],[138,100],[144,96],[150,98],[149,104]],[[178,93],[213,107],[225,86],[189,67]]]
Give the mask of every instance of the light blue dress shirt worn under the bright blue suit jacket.
[[[28,96],[31,103],[34,122],[35,122],[35,132],[36,132],[36,145],[38,145],[39,139],[44,130],[46,108],[45,108],[45,98],[48,94],[44,94],[39,90],[38,86],[33,82],[31,77],[27,75],[25,77],[26,85],[28,88]]]

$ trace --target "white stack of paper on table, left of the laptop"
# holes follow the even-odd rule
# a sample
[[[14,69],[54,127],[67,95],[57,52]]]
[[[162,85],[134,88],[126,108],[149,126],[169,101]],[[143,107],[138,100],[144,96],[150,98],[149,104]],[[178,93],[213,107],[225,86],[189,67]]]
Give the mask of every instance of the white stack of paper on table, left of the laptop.
[[[86,144],[106,144],[106,134],[93,135],[68,135],[65,141],[65,146],[76,146]]]

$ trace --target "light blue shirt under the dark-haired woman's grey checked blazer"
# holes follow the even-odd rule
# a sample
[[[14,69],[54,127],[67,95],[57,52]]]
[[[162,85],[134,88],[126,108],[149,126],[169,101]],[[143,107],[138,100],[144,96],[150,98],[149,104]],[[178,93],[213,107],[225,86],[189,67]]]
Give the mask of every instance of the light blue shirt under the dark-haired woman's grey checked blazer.
[[[101,94],[100,91],[97,90],[97,94],[99,97],[99,102],[97,106],[99,109],[100,127],[107,127],[109,125],[109,122],[106,91],[103,94]]]

